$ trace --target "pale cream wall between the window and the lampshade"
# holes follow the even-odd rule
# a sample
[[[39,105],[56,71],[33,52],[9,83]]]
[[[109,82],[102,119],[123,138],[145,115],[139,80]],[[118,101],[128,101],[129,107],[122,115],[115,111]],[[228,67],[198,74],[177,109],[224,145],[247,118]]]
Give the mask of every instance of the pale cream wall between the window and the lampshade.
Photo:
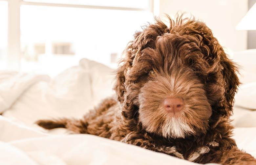
[[[236,25],[248,10],[247,0],[160,0],[160,17],[187,12],[206,23],[227,52],[247,49],[247,31]]]

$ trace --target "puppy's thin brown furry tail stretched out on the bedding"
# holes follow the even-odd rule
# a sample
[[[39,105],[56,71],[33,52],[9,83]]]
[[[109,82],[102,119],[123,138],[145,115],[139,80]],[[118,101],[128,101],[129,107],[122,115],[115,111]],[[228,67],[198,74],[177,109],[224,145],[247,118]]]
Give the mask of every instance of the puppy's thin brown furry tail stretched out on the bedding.
[[[44,129],[51,130],[54,128],[66,128],[74,133],[87,134],[87,122],[78,119],[53,119],[53,120],[38,120],[36,124]]]

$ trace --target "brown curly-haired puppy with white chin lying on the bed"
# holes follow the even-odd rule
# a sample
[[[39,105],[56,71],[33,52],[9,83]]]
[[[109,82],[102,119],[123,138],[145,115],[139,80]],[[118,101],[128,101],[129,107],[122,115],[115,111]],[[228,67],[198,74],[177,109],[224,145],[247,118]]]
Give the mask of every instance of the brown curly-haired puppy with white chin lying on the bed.
[[[169,18],[169,17],[168,17]],[[194,19],[171,18],[135,33],[117,70],[117,99],[83,119],[40,120],[197,163],[256,164],[231,138],[239,79],[212,31]]]

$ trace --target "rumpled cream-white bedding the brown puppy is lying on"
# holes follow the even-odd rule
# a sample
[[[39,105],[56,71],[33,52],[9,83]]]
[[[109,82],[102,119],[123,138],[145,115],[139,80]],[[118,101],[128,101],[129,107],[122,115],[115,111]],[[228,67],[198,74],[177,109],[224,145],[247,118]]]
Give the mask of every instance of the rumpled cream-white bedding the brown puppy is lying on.
[[[112,73],[86,59],[54,79],[2,72],[0,164],[194,164],[92,135],[68,135],[65,129],[46,132],[34,124],[42,118],[81,117],[113,94]],[[256,157],[256,111],[235,107],[233,118],[238,147]]]

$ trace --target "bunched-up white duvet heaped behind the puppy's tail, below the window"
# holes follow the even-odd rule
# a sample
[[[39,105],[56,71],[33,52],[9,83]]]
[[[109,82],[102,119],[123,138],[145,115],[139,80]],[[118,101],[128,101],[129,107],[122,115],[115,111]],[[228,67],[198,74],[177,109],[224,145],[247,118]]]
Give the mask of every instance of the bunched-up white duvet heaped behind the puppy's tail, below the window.
[[[113,94],[112,73],[113,69],[103,64],[82,59],[78,66],[63,71],[49,83],[32,85],[3,115],[27,125],[42,118],[81,118]]]

